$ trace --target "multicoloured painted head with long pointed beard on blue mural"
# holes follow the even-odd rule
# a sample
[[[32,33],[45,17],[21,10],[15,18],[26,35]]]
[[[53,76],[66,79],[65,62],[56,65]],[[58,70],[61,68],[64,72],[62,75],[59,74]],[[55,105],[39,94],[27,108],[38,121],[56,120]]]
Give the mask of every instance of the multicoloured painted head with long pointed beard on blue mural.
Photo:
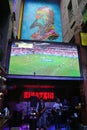
[[[31,35],[34,40],[54,40],[58,38],[54,27],[54,12],[49,7],[41,7],[36,12],[36,19],[30,29],[38,27],[38,31]]]

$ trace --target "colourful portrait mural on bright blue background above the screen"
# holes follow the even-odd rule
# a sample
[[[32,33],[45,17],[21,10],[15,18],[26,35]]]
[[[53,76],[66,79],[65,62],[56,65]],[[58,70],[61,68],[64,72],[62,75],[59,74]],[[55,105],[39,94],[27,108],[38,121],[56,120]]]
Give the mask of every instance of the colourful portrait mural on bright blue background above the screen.
[[[62,42],[59,5],[25,0],[20,37],[27,40]]]

